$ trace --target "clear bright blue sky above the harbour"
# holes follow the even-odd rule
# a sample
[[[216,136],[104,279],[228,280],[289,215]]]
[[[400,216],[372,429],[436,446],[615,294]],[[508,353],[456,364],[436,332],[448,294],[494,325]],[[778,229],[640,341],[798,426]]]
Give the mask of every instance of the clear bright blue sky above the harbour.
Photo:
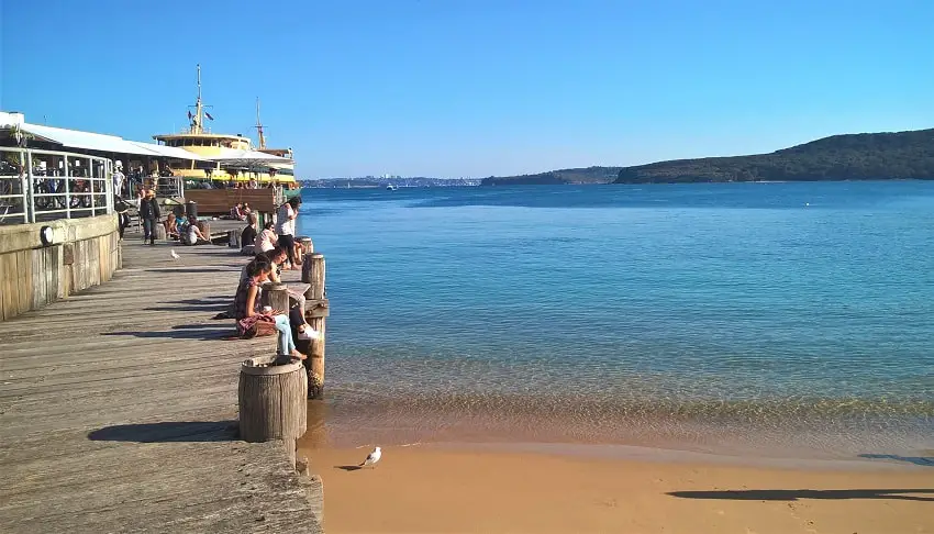
[[[934,1],[0,0],[0,109],[214,131],[303,178],[483,177],[934,126]]]

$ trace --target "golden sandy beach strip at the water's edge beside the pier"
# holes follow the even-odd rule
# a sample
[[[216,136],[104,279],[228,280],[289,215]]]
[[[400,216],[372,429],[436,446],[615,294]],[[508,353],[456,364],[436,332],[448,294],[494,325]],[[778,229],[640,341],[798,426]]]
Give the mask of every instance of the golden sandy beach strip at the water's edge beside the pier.
[[[509,447],[300,450],[331,533],[934,532],[934,467],[881,460],[753,466]],[[660,460],[659,460],[660,459]]]

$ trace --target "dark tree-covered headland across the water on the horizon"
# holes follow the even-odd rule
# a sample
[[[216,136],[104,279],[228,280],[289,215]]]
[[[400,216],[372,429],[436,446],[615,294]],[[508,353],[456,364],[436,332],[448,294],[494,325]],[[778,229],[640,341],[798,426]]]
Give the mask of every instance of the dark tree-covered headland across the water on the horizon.
[[[771,154],[483,178],[482,186],[934,179],[934,129],[833,135]]]

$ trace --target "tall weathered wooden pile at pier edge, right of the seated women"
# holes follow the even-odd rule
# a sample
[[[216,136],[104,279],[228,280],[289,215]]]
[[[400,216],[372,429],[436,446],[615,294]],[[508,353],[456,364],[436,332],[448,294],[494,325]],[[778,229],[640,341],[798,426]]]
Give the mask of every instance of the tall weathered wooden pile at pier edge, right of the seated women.
[[[309,285],[304,292],[304,318],[319,333],[309,343],[308,359],[304,360],[308,368],[308,393],[311,399],[323,399],[325,320],[330,315],[329,302],[324,297],[324,255],[311,254],[302,267],[302,281]]]

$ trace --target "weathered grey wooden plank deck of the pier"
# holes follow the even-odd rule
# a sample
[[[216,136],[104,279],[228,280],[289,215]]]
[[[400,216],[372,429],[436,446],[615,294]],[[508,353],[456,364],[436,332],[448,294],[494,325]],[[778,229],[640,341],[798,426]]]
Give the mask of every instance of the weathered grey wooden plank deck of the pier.
[[[112,281],[0,325],[0,532],[321,532],[280,442],[235,437],[246,258],[126,235]],[[310,501],[311,499],[311,501]]]

